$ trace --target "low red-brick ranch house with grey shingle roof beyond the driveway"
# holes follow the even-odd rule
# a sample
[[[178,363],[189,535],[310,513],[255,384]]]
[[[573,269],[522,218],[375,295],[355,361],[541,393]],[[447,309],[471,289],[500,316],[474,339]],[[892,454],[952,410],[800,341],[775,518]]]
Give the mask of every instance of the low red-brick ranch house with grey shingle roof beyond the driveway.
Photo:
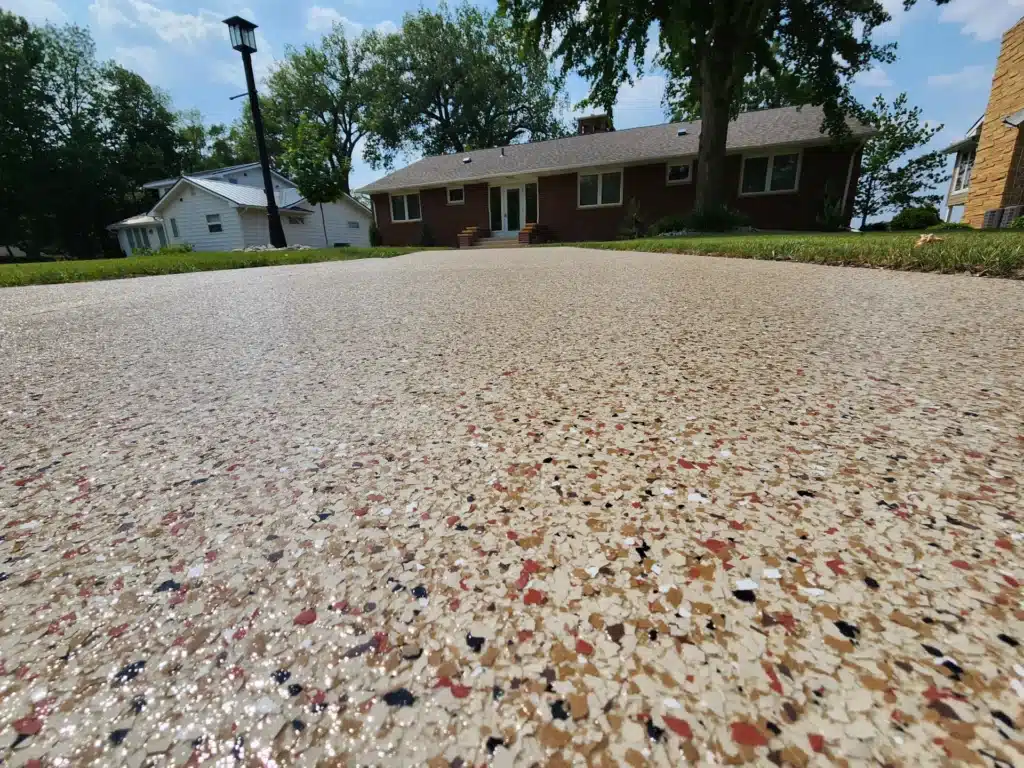
[[[729,207],[762,229],[817,228],[829,205],[848,223],[874,130],[851,122],[840,144],[821,125],[813,106],[734,120]],[[581,119],[574,136],[424,158],[358,191],[389,246],[612,240],[632,201],[648,224],[692,209],[699,135],[699,121],[615,131],[598,115]]]

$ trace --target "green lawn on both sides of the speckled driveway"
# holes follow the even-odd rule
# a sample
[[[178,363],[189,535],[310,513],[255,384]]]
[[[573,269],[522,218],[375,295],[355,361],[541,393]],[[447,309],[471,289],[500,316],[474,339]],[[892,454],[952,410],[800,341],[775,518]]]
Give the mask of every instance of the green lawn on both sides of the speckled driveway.
[[[937,242],[914,247],[922,232],[709,234],[646,238],[579,244],[587,248],[654,253],[802,261],[923,272],[970,272],[989,278],[1024,279],[1024,232],[939,232]],[[347,248],[262,253],[187,253],[95,261],[0,264],[0,288],[49,283],[81,283],[152,274],[307,264],[319,261],[389,258],[421,248]]]

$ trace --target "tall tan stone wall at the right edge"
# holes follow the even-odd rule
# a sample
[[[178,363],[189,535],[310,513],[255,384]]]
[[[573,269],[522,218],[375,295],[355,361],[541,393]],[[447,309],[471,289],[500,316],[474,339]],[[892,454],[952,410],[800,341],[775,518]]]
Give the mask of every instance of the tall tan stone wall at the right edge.
[[[964,210],[964,220],[972,226],[981,226],[985,211],[1015,205],[1014,200],[1021,194],[1018,186],[1008,183],[1019,178],[1020,131],[1002,122],[1021,108],[1024,108],[1024,18],[1002,36],[995,63],[978,157],[971,174],[971,193]]]

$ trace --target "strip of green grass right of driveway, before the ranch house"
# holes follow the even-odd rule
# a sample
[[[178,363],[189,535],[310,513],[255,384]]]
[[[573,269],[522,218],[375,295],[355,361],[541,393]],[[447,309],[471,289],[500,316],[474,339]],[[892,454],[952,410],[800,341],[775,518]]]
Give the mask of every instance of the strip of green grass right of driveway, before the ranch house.
[[[942,241],[914,248],[922,232],[843,232],[709,234],[579,245],[614,251],[697,253],[743,259],[1024,279],[1024,232],[1002,229],[930,233]]]

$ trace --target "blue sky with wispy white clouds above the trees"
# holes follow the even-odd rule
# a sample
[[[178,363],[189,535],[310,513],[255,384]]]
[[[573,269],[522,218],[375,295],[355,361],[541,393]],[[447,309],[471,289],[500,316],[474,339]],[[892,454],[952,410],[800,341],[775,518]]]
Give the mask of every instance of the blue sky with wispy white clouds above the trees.
[[[897,60],[863,73],[855,95],[869,102],[879,93],[892,99],[906,91],[923,117],[944,127],[932,142],[939,147],[962,136],[984,114],[998,55],[999,38],[1021,16],[1024,0],[951,0],[936,5],[919,0],[909,11],[902,0],[882,0],[893,18],[876,31],[877,40],[895,42]],[[480,3],[493,7],[493,3]],[[334,24],[351,32],[394,30],[402,14],[436,0],[0,0],[0,7],[30,22],[87,26],[100,59],[114,59],[167,91],[175,109],[198,109],[208,122],[229,123],[239,115],[245,91],[238,53],[221,23],[240,14],[259,25],[254,54],[257,78],[289,46],[315,42]],[[614,109],[616,128],[665,122],[665,78],[647,72],[623,88]],[[572,76],[574,103],[587,84]],[[952,161],[950,160],[950,166]],[[369,183],[376,171],[356,158],[352,187]]]

